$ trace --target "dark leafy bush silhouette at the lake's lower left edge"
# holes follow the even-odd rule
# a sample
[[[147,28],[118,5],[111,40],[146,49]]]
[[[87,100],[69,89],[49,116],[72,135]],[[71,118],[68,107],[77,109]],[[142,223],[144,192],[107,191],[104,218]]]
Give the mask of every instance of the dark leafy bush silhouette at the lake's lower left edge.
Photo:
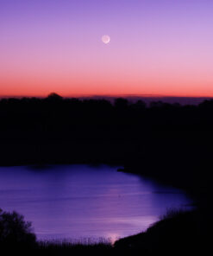
[[[31,222],[21,214],[5,212],[0,208],[0,247],[31,247],[36,243]]]

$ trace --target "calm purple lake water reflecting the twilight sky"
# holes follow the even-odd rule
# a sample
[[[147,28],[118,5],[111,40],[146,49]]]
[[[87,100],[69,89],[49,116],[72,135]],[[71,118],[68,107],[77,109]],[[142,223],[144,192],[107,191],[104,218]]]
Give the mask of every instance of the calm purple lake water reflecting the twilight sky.
[[[0,208],[32,221],[40,240],[117,238],[147,229],[166,208],[190,203],[178,189],[116,167],[0,167]]]

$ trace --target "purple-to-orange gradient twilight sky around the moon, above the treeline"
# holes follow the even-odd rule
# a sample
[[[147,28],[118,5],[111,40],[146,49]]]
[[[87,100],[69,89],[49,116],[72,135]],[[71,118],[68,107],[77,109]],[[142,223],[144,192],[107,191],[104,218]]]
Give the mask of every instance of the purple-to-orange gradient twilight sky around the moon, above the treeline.
[[[213,96],[213,1],[0,0],[0,95],[51,92]]]

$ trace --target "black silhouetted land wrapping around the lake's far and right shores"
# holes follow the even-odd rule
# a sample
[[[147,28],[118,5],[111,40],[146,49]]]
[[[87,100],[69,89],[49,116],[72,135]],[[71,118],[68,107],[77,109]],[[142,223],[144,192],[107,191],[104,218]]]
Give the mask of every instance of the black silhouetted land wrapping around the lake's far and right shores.
[[[130,245],[135,254],[156,255],[172,245],[179,247],[172,254],[210,246],[213,100],[146,106],[141,100],[112,104],[52,93],[47,99],[1,99],[0,120],[0,165],[122,165],[124,171],[185,189],[196,200],[197,211],[166,216],[146,233],[117,242],[115,250]]]

